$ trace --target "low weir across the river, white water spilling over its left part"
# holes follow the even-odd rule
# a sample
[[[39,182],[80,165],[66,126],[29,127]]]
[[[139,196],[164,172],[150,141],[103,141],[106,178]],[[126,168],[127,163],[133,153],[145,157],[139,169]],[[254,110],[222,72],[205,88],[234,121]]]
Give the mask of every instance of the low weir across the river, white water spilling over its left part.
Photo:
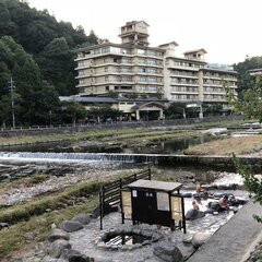
[[[262,157],[238,156],[243,164],[252,168],[262,168]],[[0,160],[4,162],[116,162],[127,164],[152,164],[160,166],[198,165],[231,168],[230,156],[195,156],[168,154],[123,154],[123,153],[31,153],[0,152]]]

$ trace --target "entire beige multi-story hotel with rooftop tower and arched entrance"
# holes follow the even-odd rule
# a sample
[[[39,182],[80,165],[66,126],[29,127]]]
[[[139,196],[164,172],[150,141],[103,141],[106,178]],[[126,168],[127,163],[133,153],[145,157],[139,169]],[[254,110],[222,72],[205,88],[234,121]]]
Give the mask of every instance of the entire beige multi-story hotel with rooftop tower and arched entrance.
[[[115,97],[114,107],[136,119],[143,110],[163,118],[163,109],[172,102],[219,103],[226,109],[224,86],[237,93],[238,73],[227,66],[209,64],[203,48],[180,57],[176,41],[150,47],[147,28],[144,21],[128,22],[120,28],[121,44],[78,49],[78,96],[86,102]]]

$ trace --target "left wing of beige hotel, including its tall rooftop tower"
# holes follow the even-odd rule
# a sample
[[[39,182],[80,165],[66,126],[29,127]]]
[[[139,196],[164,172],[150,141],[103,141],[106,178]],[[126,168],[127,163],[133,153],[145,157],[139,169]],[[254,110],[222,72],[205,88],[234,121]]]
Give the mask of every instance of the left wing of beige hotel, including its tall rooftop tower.
[[[165,50],[148,47],[147,24],[130,22],[121,27],[121,44],[104,43],[78,50],[80,95],[120,97],[163,94]]]

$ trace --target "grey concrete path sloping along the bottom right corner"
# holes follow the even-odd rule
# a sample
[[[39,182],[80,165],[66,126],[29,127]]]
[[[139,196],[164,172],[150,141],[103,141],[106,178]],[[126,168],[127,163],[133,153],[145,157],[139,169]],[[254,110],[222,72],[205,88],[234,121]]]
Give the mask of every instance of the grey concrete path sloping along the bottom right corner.
[[[252,215],[262,214],[260,204],[248,203],[222,226],[187,262],[241,262],[262,239],[262,224]]]

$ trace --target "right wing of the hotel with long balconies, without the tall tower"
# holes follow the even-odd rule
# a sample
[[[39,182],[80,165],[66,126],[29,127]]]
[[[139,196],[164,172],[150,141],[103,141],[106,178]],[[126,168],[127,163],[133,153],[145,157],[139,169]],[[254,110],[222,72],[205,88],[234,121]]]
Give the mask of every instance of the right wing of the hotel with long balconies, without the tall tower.
[[[238,73],[226,64],[210,64],[204,49],[175,55],[176,43],[162,45],[166,49],[164,83],[165,97],[170,102],[198,105],[219,103],[227,107],[225,86],[237,90]]]

